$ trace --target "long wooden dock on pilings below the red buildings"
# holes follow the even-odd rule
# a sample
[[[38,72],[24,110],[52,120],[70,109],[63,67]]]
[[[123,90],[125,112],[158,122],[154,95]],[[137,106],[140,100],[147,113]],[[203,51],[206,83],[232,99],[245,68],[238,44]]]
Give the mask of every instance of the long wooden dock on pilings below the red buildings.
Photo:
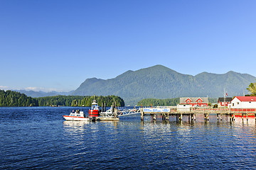
[[[218,120],[222,120],[223,115],[229,115],[230,122],[235,121],[235,117],[239,116],[246,118],[255,117],[256,121],[256,108],[189,108],[189,109],[178,109],[177,107],[168,107],[165,111],[158,111],[157,108],[154,111],[151,108],[141,108],[141,120],[144,120],[144,115],[150,114],[153,120],[156,120],[156,114],[162,116],[162,120],[169,120],[170,115],[176,116],[177,121],[182,121],[183,116],[188,116],[188,121],[196,120],[196,115],[204,115],[205,120],[209,120],[209,115],[216,115]]]

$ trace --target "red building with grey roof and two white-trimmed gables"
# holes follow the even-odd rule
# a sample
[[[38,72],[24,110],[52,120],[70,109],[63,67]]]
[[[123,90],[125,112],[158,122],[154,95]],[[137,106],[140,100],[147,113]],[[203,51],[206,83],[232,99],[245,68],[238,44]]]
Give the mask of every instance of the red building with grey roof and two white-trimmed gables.
[[[208,106],[208,97],[185,97],[180,98],[180,104],[190,104],[198,107],[207,107]]]

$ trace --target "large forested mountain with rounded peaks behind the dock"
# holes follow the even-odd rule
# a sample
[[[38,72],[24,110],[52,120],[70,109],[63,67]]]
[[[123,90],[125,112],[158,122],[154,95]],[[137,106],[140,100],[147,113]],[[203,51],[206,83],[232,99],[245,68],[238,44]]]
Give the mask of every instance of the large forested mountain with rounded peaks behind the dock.
[[[143,98],[177,98],[209,96],[218,98],[227,91],[228,96],[247,93],[247,86],[256,77],[250,74],[228,72],[212,74],[203,72],[196,76],[181,74],[162,65],[137,71],[127,71],[114,79],[86,79],[72,95],[107,96],[115,95],[124,99],[125,104],[136,104]]]

